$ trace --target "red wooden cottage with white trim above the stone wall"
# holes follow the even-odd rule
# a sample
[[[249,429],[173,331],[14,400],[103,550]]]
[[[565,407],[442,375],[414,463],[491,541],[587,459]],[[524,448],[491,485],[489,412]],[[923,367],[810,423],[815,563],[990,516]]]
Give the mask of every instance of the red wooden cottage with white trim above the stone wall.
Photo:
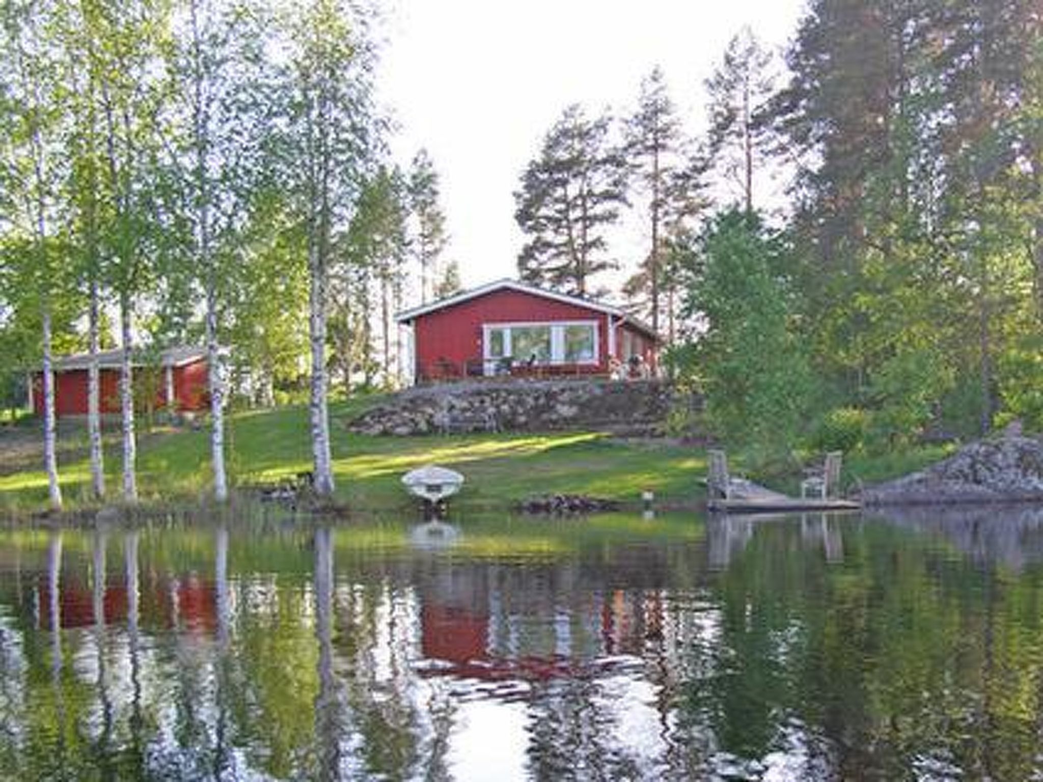
[[[658,339],[624,310],[513,279],[408,310],[416,382],[495,374],[652,372]]]

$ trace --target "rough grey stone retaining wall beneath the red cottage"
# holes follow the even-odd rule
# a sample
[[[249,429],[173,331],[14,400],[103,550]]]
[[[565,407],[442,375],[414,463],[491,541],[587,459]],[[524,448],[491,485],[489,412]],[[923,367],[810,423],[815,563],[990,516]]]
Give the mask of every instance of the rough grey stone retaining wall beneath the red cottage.
[[[347,422],[366,435],[607,430],[661,434],[672,402],[661,381],[480,381],[411,388]]]

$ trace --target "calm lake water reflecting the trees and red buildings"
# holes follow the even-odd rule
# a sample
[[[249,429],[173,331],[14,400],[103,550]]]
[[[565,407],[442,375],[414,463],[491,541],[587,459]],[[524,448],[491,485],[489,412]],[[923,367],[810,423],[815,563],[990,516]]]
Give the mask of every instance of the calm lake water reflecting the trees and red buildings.
[[[1043,779],[1043,512],[0,532],[0,779]]]

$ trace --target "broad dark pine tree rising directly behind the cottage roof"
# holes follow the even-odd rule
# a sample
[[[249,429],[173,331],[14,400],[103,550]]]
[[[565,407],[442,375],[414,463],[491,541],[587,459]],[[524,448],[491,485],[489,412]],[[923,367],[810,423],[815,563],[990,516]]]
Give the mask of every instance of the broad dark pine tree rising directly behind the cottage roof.
[[[626,168],[609,143],[609,118],[588,120],[572,105],[543,139],[514,193],[514,218],[528,237],[523,279],[583,295],[595,275],[616,267],[606,229],[626,203]]]

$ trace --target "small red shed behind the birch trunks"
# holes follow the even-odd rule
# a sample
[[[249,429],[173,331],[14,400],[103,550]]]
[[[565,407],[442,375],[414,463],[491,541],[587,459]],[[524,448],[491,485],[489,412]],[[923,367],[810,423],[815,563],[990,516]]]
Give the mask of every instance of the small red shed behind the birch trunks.
[[[120,362],[123,351],[98,352],[101,381],[100,407],[102,414],[120,412]],[[90,353],[65,356],[54,361],[54,412],[58,416],[87,415],[88,368]],[[170,347],[160,353],[159,366],[154,362],[136,360],[138,370],[157,371],[156,407],[186,412],[205,410],[210,404],[207,393],[207,350],[201,347]],[[37,372],[32,382],[32,409],[44,410],[43,372]]]

